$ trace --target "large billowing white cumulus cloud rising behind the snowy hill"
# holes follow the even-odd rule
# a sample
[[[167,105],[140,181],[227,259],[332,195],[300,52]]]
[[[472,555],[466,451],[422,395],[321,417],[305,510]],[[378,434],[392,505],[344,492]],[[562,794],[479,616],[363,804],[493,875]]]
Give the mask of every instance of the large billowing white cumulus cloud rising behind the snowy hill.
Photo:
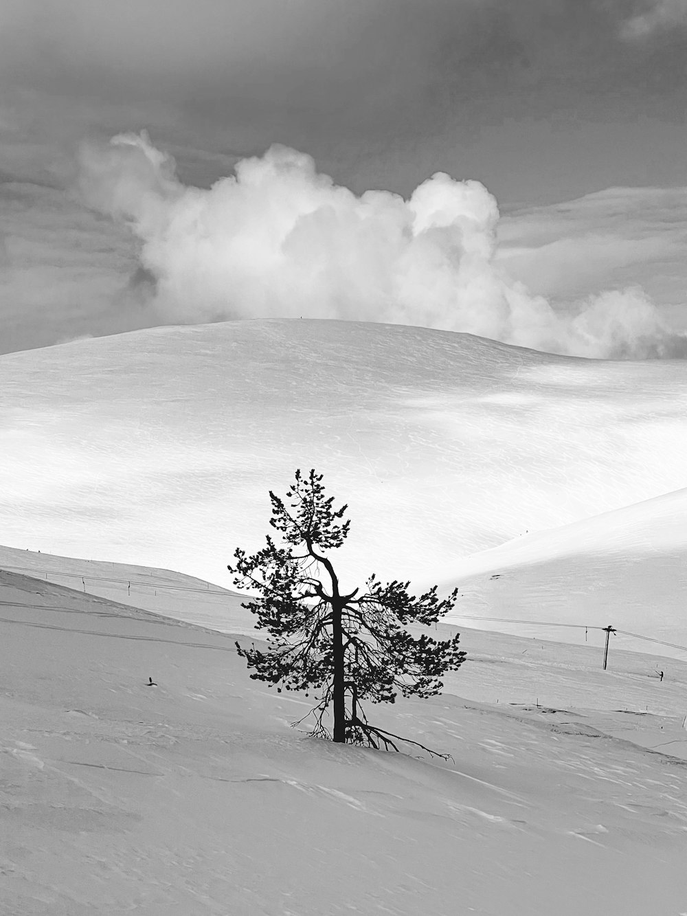
[[[687,352],[641,290],[565,314],[496,265],[495,198],[437,173],[404,199],[360,196],[273,146],[209,190],[147,135],[82,149],[85,199],[127,224],[160,321],[329,318],[422,325],[591,357]]]

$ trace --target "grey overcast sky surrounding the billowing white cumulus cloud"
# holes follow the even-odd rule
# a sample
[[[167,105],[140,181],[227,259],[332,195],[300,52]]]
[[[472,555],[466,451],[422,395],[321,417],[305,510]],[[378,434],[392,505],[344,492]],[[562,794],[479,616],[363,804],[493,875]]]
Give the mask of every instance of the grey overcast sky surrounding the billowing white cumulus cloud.
[[[142,129],[186,186],[273,143],[356,194],[480,181],[534,293],[649,286],[684,326],[686,72],[687,0],[0,0],[0,352],[151,323],[77,189]]]

